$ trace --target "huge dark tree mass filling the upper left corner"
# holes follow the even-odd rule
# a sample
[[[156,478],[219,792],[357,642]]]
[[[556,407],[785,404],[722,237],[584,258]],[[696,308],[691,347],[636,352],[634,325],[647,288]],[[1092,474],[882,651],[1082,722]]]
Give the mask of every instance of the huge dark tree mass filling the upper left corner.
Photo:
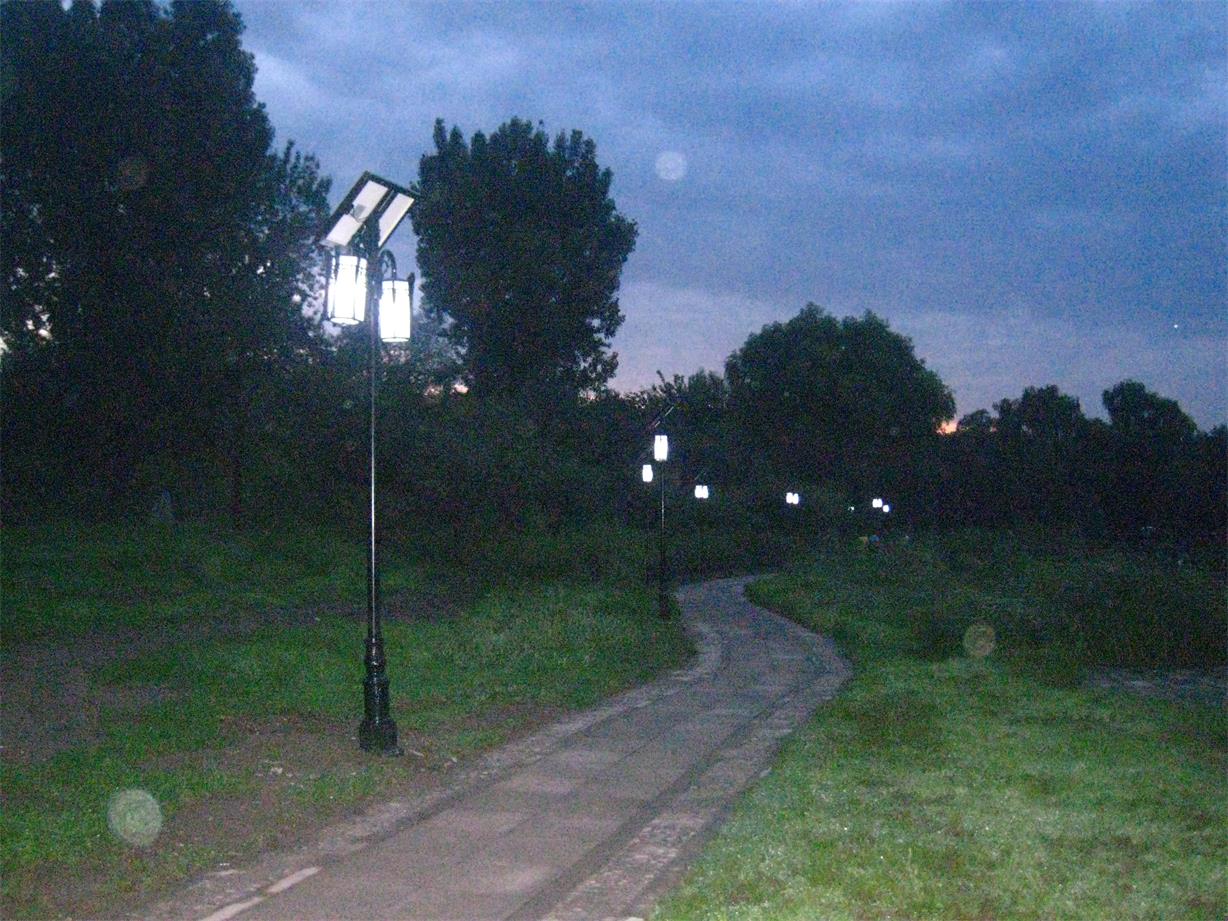
[[[312,333],[318,165],[271,152],[225,0],[4,4],[0,28],[6,436],[50,425],[25,473],[114,507],[194,456],[239,496],[253,375]]]

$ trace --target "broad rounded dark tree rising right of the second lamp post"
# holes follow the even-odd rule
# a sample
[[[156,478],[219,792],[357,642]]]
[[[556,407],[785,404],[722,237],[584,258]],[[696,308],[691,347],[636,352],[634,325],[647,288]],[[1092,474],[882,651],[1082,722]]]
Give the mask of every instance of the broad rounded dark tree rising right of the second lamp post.
[[[931,491],[937,429],[954,398],[873,313],[837,321],[807,305],[748,338],[726,379],[744,469],[766,464],[793,481],[906,497],[914,508]]]

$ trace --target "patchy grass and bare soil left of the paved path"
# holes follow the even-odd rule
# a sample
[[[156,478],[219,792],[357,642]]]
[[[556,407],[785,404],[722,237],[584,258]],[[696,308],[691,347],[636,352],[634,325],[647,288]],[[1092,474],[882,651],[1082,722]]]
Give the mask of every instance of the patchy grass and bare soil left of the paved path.
[[[408,754],[371,758],[355,743],[361,548],[198,526],[7,532],[5,544],[6,696],[44,682],[33,702],[49,731],[80,733],[54,753],[17,755],[6,739],[5,917],[113,914],[689,652],[680,626],[656,618],[636,534],[508,537],[463,567],[392,546],[386,642]],[[64,674],[12,668],[52,636]],[[56,699],[65,688],[76,696]],[[130,788],[161,807],[151,844],[108,826],[109,798]]]

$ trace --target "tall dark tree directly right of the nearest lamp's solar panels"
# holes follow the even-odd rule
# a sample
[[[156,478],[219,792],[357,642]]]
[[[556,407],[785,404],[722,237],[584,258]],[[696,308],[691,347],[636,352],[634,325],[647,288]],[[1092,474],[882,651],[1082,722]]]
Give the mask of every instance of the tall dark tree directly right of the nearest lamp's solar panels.
[[[636,226],[580,131],[551,145],[519,119],[465,142],[435,123],[410,211],[427,312],[478,392],[593,392],[618,366],[618,286]]]

